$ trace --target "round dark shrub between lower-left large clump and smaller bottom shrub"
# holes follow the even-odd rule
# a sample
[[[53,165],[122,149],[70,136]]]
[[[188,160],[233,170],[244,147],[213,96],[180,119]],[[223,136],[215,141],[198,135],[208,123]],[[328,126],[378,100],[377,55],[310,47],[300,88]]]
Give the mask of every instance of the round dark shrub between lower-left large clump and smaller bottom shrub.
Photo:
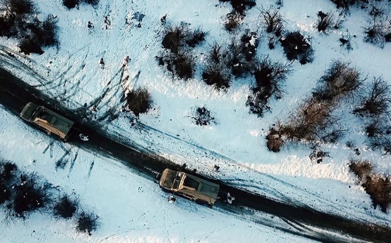
[[[70,198],[67,194],[57,197],[53,204],[53,215],[56,218],[70,219],[79,207],[79,202],[75,198]]]

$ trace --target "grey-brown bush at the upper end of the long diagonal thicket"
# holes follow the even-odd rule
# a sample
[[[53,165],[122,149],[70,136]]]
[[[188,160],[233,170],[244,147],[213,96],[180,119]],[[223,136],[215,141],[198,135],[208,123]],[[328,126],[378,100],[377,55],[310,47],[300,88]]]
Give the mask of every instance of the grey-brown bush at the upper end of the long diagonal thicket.
[[[320,85],[312,93],[313,97],[319,101],[331,101],[352,97],[364,80],[360,79],[357,69],[350,67],[350,63],[335,60],[319,82]]]

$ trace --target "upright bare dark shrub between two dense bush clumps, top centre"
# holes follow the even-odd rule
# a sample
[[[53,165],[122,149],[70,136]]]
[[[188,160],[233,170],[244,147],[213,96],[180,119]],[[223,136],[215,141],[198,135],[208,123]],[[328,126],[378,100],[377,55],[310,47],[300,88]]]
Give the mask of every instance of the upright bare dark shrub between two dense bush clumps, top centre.
[[[208,85],[215,85],[217,89],[229,88],[231,83],[231,69],[228,66],[228,49],[216,42],[211,46],[202,73],[202,80]]]

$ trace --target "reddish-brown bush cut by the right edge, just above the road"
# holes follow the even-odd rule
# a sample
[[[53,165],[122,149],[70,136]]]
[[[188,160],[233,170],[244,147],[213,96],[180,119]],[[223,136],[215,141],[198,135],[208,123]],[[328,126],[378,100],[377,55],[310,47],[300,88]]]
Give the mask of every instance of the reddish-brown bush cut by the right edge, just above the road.
[[[365,191],[372,199],[373,207],[380,206],[386,213],[391,204],[391,180],[389,176],[369,175],[363,183]]]

